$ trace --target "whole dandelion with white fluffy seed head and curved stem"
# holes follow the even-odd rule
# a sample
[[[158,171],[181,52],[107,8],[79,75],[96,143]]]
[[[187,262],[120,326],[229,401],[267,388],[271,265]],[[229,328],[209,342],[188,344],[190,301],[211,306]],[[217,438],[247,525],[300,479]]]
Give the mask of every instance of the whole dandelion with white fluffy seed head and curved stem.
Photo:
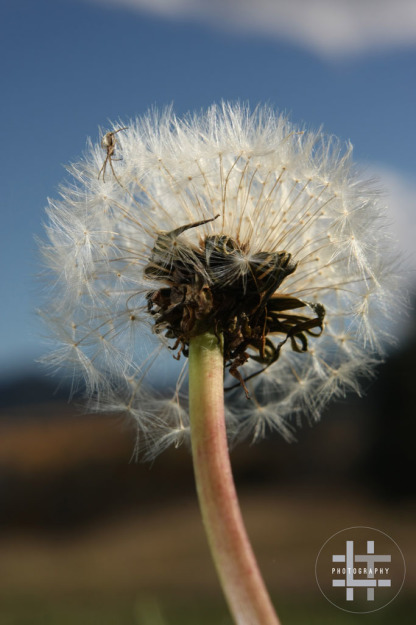
[[[350,145],[267,108],[168,110],[105,137],[47,210],[50,361],[82,374],[94,409],[129,414],[146,457],[191,439],[236,622],[277,623],[260,581],[242,589],[256,565],[238,511],[218,513],[227,440],[291,439],[371,374],[397,306],[379,194]]]

